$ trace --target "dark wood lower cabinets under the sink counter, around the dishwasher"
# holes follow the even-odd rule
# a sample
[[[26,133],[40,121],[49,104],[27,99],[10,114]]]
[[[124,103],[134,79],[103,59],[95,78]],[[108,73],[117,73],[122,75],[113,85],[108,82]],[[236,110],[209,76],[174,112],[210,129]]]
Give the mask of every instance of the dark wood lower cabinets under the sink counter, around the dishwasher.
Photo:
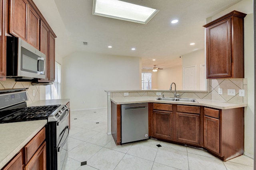
[[[121,142],[121,105],[112,102],[112,136]],[[149,103],[149,137],[206,149],[223,161],[244,153],[244,107]]]

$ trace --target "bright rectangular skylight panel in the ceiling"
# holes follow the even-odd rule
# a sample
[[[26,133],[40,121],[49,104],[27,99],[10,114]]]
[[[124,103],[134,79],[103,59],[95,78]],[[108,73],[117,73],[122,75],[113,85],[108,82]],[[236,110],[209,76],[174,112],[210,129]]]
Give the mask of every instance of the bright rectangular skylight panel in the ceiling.
[[[120,0],[93,1],[94,15],[138,23],[147,23],[158,11]]]

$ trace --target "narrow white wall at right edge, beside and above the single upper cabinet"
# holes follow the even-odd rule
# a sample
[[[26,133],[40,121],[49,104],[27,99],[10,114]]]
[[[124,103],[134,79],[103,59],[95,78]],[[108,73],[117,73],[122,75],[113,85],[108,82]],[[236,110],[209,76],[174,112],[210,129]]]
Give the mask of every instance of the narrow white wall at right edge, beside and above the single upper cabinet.
[[[254,155],[254,27],[253,0],[243,0],[212,17],[219,18],[233,10],[244,12],[244,77],[248,82],[248,104],[244,110],[244,154]]]

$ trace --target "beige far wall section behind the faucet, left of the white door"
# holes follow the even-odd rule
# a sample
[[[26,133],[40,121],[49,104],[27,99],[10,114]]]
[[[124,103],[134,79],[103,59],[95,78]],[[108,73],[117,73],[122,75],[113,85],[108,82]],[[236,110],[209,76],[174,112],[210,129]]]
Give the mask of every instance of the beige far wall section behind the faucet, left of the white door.
[[[171,68],[164,68],[163,70],[158,70],[158,89],[168,90],[170,89],[172,82],[175,82],[176,90],[182,90],[182,66],[175,66]]]

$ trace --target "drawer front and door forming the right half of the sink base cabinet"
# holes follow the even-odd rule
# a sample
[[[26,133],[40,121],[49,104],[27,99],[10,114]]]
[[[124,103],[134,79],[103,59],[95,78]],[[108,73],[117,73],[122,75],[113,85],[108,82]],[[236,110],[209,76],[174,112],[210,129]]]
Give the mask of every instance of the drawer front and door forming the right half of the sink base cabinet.
[[[200,144],[200,107],[177,105],[177,141]]]

